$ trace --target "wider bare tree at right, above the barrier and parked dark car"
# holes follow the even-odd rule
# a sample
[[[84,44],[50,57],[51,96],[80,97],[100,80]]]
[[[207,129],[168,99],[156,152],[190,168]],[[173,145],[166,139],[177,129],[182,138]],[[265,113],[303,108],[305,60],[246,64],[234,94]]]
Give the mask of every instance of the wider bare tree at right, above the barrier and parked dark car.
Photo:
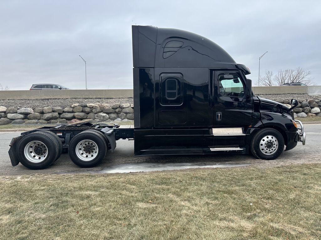
[[[277,86],[282,86],[285,83],[303,83],[306,85],[313,85],[313,78],[310,76],[311,72],[308,69],[280,69],[277,75],[274,76],[274,82]]]

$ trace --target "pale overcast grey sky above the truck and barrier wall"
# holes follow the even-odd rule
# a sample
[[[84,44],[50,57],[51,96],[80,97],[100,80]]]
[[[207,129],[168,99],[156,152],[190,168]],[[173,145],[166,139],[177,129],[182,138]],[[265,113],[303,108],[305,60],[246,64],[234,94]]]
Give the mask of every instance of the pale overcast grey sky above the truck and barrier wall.
[[[255,86],[265,70],[306,68],[321,85],[321,1],[0,1],[0,84],[132,89],[131,25],[209,38]]]

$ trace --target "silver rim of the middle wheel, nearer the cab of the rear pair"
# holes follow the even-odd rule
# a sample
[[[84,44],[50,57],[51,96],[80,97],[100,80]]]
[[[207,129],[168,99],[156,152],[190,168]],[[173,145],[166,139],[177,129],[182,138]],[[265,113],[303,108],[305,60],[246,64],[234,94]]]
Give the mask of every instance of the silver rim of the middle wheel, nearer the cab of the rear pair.
[[[92,140],[82,140],[76,146],[77,157],[85,162],[95,159],[98,155],[98,146]]]

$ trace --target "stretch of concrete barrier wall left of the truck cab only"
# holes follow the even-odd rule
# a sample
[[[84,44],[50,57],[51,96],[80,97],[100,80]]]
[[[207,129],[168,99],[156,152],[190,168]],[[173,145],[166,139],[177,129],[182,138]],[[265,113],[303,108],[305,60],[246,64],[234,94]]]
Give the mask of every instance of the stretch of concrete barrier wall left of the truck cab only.
[[[132,98],[133,89],[0,91],[0,99]]]

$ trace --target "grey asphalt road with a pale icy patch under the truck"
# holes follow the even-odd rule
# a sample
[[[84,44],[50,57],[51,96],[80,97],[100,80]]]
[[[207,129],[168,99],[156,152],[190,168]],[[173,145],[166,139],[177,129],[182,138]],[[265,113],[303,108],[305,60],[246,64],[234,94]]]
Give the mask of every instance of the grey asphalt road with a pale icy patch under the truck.
[[[68,154],[62,154],[54,164],[43,170],[30,170],[22,164],[13,167],[8,155],[9,143],[21,132],[0,132],[0,175],[140,172],[196,167],[270,167],[286,164],[321,163],[321,124],[304,125],[304,131],[306,132],[306,145],[303,146],[299,142],[295,148],[283,152],[279,158],[270,161],[240,154],[134,157],[134,141],[118,140],[115,151],[113,153],[108,151],[105,159],[96,167],[80,168],[70,160]]]

